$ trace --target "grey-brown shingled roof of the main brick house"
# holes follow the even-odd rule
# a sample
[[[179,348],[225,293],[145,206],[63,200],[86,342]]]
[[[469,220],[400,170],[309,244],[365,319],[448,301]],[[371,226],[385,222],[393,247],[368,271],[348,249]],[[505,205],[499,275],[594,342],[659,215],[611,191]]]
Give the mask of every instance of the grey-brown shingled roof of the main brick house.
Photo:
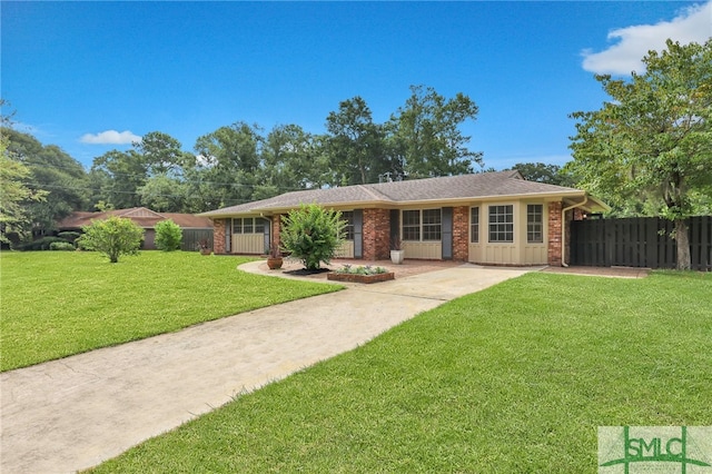
[[[225,217],[249,214],[275,214],[294,209],[303,204],[325,207],[397,207],[428,201],[464,201],[493,197],[561,196],[582,198],[583,190],[525,180],[520,171],[495,171],[474,175],[414,179],[409,181],[354,185],[328,189],[291,191],[269,199],[225,207],[200,216]],[[595,201],[599,207],[605,205]]]

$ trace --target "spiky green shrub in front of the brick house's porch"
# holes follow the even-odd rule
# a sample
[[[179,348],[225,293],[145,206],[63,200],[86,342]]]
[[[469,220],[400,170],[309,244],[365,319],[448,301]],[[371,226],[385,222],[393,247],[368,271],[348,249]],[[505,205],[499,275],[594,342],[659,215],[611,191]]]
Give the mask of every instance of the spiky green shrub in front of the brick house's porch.
[[[346,221],[340,217],[342,213],[316,204],[301,205],[283,216],[281,245],[301,259],[306,269],[316,270],[322,261],[328,264],[334,258],[344,241]]]

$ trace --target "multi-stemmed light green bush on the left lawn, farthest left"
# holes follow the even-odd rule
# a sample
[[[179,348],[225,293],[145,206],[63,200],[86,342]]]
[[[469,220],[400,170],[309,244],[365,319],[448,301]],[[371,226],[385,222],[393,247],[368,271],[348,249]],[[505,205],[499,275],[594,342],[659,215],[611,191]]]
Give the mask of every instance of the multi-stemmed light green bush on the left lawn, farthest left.
[[[85,235],[79,245],[87,250],[97,250],[116,264],[121,255],[136,255],[144,240],[144,229],[131,219],[111,216],[82,227]]]

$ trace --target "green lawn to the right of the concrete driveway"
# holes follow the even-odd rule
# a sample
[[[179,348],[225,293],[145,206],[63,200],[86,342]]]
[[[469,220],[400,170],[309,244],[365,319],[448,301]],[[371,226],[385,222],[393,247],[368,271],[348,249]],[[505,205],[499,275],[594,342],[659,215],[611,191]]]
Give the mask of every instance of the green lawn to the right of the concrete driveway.
[[[597,426],[712,425],[712,275],[528,274],[96,473],[594,473]]]

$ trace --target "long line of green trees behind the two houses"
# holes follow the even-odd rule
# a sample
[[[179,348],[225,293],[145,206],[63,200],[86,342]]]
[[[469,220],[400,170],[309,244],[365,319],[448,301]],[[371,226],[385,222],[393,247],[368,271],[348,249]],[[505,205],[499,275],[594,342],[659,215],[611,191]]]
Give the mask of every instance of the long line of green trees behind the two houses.
[[[473,172],[482,154],[467,148],[461,128],[477,112],[463,93],[446,98],[413,86],[383,124],[356,96],[328,113],[320,135],[295,124],[265,132],[236,121],[198,137],[187,152],[170,135],[150,131],[126,150],[96,157],[88,171],[28,134],[6,127],[3,135],[8,156],[29,169],[24,186],[48,192],[46,201],[23,201],[23,211],[38,228],[52,230],[70,211],[93,210],[99,203],[201,213],[299,189]]]

